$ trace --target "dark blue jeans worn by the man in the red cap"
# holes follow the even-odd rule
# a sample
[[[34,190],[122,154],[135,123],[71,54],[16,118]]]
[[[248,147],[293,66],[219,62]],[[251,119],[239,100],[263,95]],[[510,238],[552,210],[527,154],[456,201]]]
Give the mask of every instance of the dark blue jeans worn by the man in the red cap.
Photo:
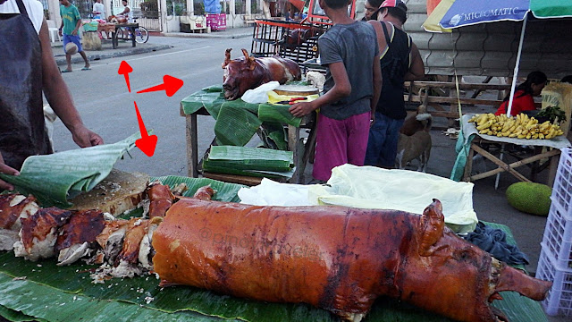
[[[395,120],[375,112],[375,123],[369,129],[365,165],[393,167],[397,156],[397,141],[405,119]]]

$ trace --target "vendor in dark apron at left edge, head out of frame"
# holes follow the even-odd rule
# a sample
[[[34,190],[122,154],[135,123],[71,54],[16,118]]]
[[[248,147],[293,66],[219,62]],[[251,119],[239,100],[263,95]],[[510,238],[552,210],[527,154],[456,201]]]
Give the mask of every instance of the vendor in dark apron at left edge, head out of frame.
[[[88,130],[55,64],[44,8],[37,0],[0,0],[0,172],[18,175],[29,156],[52,151],[42,93],[81,147],[103,144]],[[0,180],[0,190],[13,185]]]

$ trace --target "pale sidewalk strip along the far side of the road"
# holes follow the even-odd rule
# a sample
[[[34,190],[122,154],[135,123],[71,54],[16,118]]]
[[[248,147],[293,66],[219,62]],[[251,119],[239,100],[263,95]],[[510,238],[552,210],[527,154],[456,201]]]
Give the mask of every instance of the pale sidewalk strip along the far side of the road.
[[[252,37],[252,27],[242,28],[227,28],[226,30],[211,31],[209,33],[186,33],[186,32],[170,32],[159,33],[150,31],[151,37],[179,37],[179,38],[246,38]],[[120,40],[116,49],[112,47],[111,40],[102,40],[102,50],[85,50],[88,55],[88,60],[95,61],[106,58],[122,57],[126,55],[137,55],[149,53],[156,50],[169,49],[169,45],[156,45],[156,44],[137,44],[136,47],[131,47],[130,41]],[[52,43],[52,51],[55,56],[55,63],[59,66],[65,66],[65,54],[63,54],[63,43],[61,41]],[[71,56],[72,64],[81,64],[83,59],[81,55]]]

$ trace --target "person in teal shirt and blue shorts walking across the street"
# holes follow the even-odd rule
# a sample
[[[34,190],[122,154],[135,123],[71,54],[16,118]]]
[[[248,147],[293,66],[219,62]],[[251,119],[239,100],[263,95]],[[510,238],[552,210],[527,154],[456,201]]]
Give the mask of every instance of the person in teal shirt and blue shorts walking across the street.
[[[65,51],[65,45],[68,43],[74,43],[78,47],[78,53],[80,53],[83,61],[86,62],[85,66],[81,70],[88,71],[88,56],[83,51],[83,47],[81,47],[81,40],[78,35],[78,30],[80,30],[81,27],[80,11],[78,11],[78,8],[71,4],[69,0],[60,0],[60,15],[62,16],[62,25],[60,26],[58,33],[63,37],[63,52],[65,53],[65,61],[68,64],[68,68],[62,72],[72,72],[71,54]]]

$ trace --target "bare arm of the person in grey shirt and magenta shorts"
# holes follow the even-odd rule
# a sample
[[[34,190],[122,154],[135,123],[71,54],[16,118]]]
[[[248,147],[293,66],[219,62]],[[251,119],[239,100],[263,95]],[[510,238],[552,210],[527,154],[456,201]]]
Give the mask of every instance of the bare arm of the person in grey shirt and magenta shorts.
[[[379,60],[378,60],[379,61]],[[351,94],[351,84],[349,83],[348,72],[343,62],[329,64],[330,72],[333,78],[333,87],[328,90],[323,96],[316,98],[311,102],[303,102],[294,104],[290,107],[289,111],[296,117],[302,117],[310,114],[320,106],[336,102],[343,97],[348,97]]]

